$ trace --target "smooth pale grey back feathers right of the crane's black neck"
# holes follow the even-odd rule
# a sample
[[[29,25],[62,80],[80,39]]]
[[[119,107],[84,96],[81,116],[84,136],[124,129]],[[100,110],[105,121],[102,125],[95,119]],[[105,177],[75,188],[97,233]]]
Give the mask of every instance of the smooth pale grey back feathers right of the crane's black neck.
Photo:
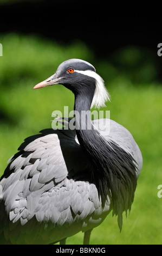
[[[115,142],[119,147],[132,155],[135,160],[138,177],[142,168],[142,155],[131,133],[124,126],[111,119],[98,119],[94,120],[93,123],[96,129],[108,141]]]

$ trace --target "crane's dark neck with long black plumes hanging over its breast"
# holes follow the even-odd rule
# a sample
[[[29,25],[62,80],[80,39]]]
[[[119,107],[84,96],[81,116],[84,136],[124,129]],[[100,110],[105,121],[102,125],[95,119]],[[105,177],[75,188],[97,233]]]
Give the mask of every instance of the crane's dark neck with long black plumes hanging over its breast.
[[[82,149],[93,164],[92,180],[98,188],[102,206],[107,196],[113,205],[113,215],[118,215],[118,224],[122,227],[122,212],[131,210],[137,176],[133,157],[119,145],[107,141],[97,130],[93,129],[90,120],[92,93],[75,95],[74,111],[76,135]],[[87,115],[85,112],[87,111]],[[90,129],[92,127],[92,129]]]

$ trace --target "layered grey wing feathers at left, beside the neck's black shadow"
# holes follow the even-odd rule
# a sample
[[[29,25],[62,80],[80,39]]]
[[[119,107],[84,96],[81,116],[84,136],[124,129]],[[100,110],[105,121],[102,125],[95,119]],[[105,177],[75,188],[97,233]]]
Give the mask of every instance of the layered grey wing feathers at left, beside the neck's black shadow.
[[[35,138],[35,137],[34,137]],[[67,176],[57,134],[31,137],[2,176],[2,196],[10,220],[24,224],[34,216],[41,195]]]

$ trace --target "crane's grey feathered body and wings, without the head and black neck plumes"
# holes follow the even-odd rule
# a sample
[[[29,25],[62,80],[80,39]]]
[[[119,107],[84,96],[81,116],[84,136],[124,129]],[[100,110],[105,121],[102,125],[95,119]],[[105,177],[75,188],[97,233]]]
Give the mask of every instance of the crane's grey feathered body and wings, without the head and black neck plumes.
[[[94,125],[98,122],[102,127],[103,120]],[[105,139],[132,155],[138,177],[138,145],[123,126],[113,120],[109,124]],[[112,210],[108,196],[102,207],[95,184],[88,181],[93,167],[75,131],[43,130],[25,139],[19,150],[0,181],[0,243],[57,242],[96,227]]]

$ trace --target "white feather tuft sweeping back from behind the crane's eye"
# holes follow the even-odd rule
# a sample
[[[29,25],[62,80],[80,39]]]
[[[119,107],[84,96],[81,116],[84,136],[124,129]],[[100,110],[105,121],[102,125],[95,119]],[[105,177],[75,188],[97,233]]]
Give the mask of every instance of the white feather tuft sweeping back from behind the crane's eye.
[[[95,91],[94,91],[94,96],[93,96],[93,100],[90,108],[106,107],[105,102],[108,100],[110,101],[110,99],[109,99],[109,93],[107,92],[107,89],[105,87],[102,77],[100,77],[98,74],[96,74],[96,72],[92,70],[85,70],[85,71],[75,70],[75,71],[83,75],[95,78],[95,81],[96,81]]]

